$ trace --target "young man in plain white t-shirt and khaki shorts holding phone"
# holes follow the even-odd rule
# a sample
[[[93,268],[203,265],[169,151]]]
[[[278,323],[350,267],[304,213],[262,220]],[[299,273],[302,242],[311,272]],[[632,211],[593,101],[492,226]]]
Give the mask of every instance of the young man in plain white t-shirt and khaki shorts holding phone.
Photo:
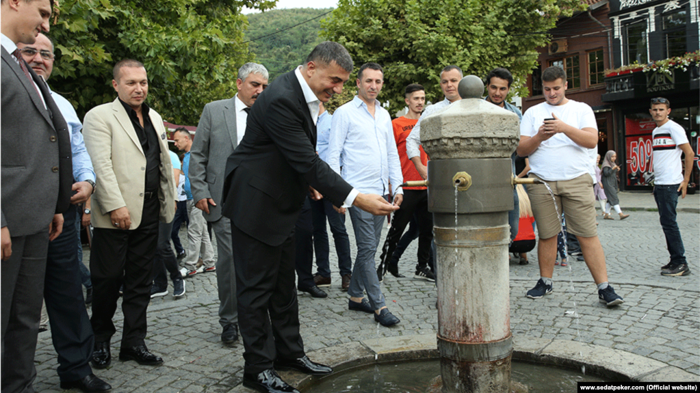
[[[585,103],[566,98],[566,72],[551,66],[542,72],[546,102],[528,109],[520,123],[517,153],[530,157],[530,178],[549,184],[556,206],[545,185],[528,185],[537,221],[540,280],[527,292],[539,299],[552,292],[556,261],[556,235],[561,231],[561,210],[566,228],[576,235],[591,276],[598,286],[598,299],[607,306],[623,302],[608,284],[605,254],[596,229],[593,179],[589,175],[589,149],[598,143],[593,110]]]

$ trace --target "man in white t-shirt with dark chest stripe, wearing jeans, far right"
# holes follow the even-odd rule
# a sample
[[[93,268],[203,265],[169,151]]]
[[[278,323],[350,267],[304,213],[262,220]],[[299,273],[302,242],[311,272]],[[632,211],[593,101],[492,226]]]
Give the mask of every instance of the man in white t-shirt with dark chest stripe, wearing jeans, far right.
[[[675,222],[675,206],[678,195],[685,198],[690,181],[694,154],[685,129],[668,118],[671,102],[659,97],[652,99],[649,110],[657,127],[652,131],[654,165],[654,200],[659,207],[661,228],[666,235],[666,247],[671,261],[661,266],[661,276],[687,276],[690,274],[685,260],[685,248],[680,230]],[[683,176],[680,154],[685,154],[685,176]]]

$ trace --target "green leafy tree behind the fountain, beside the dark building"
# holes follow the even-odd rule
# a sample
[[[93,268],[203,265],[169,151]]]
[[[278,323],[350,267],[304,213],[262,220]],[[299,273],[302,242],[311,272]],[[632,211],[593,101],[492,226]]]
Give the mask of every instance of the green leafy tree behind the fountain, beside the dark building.
[[[580,0],[339,0],[321,22],[321,36],[345,45],[356,69],[365,62],[384,66],[379,99],[395,113],[405,106],[409,83],[440,101],[439,73],[449,64],[482,78],[505,67],[516,80],[511,92],[524,97],[535,48],[549,41],[558,17],[582,9]]]

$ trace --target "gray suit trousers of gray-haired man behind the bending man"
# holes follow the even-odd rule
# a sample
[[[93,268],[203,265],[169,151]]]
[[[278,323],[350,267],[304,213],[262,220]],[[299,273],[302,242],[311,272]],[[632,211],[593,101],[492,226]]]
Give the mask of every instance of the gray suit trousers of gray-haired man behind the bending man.
[[[219,323],[222,327],[238,323],[236,270],[233,266],[231,221],[226,217],[209,222],[216,236],[216,283],[219,292]]]

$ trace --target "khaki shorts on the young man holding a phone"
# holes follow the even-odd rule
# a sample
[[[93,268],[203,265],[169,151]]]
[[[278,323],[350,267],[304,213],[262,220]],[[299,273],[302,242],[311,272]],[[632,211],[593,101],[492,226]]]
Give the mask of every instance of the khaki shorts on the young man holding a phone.
[[[534,175],[528,177],[539,179]],[[552,238],[559,234],[561,231],[561,208],[563,208],[564,217],[566,217],[566,231],[584,238],[598,236],[593,178],[585,173],[572,180],[549,181],[547,183],[552,188],[554,199],[545,185],[527,185],[527,194],[530,197],[540,238]],[[556,210],[554,209],[554,201],[556,201]]]

